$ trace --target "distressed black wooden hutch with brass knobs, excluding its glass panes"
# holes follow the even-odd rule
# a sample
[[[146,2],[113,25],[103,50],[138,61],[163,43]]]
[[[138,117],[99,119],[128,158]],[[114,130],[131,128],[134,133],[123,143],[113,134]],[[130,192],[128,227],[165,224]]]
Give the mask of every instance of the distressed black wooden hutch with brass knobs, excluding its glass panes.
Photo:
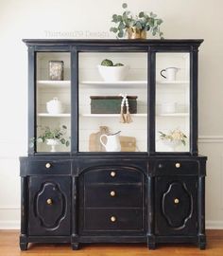
[[[70,243],[73,249],[79,243],[147,243],[150,249],[160,243],[194,243],[205,248],[206,157],[197,156],[197,49],[202,40],[24,42],[29,62],[28,137],[35,137],[36,54],[70,52],[72,141],[70,153],[41,154],[34,147],[20,158],[21,249],[28,243]],[[147,53],[146,153],[78,152],[78,53],[105,51]],[[190,54],[188,153],[155,151],[157,52]]]

